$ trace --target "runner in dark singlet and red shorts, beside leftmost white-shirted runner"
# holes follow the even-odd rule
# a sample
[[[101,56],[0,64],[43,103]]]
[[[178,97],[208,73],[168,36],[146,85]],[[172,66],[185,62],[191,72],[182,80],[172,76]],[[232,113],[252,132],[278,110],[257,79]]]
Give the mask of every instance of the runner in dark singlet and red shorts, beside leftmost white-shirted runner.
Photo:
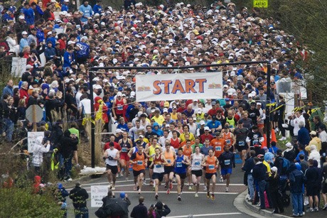
[[[123,170],[125,170],[125,176],[126,180],[128,180],[128,174],[129,174],[129,156],[127,155],[129,152],[129,149],[133,147],[132,140],[127,138],[127,132],[124,131],[122,133],[123,138],[118,141],[120,147],[122,150],[120,151],[120,165],[122,166],[121,169],[121,175],[124,175]]]

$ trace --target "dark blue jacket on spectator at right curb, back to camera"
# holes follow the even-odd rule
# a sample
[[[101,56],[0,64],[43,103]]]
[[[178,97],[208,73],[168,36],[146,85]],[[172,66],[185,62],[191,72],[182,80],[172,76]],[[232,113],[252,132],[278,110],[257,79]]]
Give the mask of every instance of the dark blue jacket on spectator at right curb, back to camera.
[[[306,182],[306,177],[300,170],[296,169],[294,163],[291,163],[289,170],[291,171],[291,173],[289,173],[290,192],[301,194],[304,182]]]

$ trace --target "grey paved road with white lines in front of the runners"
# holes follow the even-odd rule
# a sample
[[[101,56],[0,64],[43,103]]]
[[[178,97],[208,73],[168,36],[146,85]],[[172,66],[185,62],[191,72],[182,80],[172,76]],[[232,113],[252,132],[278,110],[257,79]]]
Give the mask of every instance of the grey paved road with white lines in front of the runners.
[[[124,178],[118,178],[116,183],[116,196],[119,196],[119,192],[125,192],[128,194],[132,205],[129,207],[129,211],[138,204],[139,195],[133,191],[134,182],[132,181],[132,175],[129,175],[130,180],[124,180]],[[173,190],[170,195],[166,195],[164,185],[159,187],[159,200],[166,203],[171,209],[171,214],[168,217],[187,217],[188,214],[193,214],[194,217],[250,217],[237,210],[233,201],[235,197],[241,192],[246,190],[246,186],[242,185],[243,173],[240,170],[240,164],[233,170],[230,192],[225,192],[225,184],[218,182],[216,185],[215,200],[207,199],[205,196],[206,192],[203,192],[203,184],[200,185],[199,197],[194,197],[194,191],[186,190],[184,187],[182,201],[178,202],[176,185],[174,184]],[[149,180],[146,180],[149,183]],[[107,178],[102,176],[101,178],[88,180],[82,182],[82,187],[84,187],[90,194],[91,185],[108,185]],[[69,187],[67,187],[70,190]],[[149,207],[151,204],[155,204],[154,192],[152,187],[149,185],[144,185],[142,187],[142,196],[145,197],[145,205]],[[68,200],[68,207],[72,208],[70,200]],[[94,213],[97,208],[90,207],[90,200],[87,202],[87,207],[90,211],[90,217],[95,217]],[[73,217],[73,210],[69,209],[68,217]]]

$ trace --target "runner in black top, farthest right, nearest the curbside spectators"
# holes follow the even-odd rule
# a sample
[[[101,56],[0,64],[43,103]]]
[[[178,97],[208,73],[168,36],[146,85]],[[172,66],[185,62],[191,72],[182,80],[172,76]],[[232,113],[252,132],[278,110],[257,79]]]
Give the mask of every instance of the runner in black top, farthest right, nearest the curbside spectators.
[[[247,156],[247,149],[249,146],[246,143],[247,133],[249,130],[243,127],[243,121],[238,121],[237,128],[234,130],[236,136],[236,149],[242,158],[242,167],[245,164],[245,158]]]

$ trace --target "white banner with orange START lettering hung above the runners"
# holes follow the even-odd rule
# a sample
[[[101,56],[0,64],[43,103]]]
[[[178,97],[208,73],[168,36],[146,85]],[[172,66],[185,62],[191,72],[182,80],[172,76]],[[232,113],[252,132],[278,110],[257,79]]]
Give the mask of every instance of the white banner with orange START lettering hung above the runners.
[[[136,75],[136,101],[222,99],[223,72]]]

